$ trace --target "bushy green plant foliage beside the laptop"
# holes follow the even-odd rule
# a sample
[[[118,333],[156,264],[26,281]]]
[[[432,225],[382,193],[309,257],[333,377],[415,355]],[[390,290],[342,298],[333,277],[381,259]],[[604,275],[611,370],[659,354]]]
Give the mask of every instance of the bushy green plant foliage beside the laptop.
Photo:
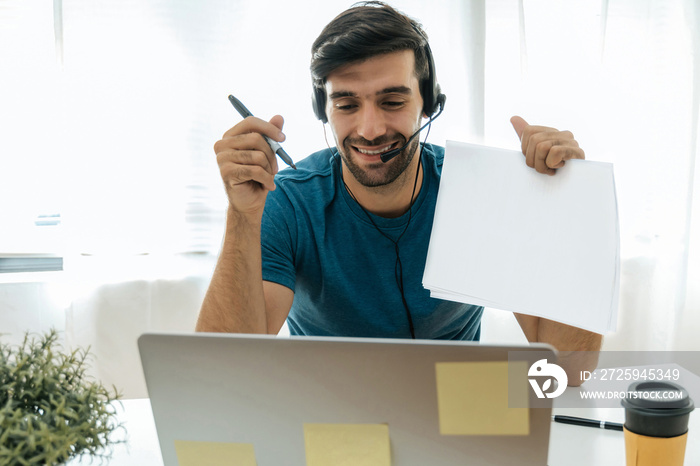
[[[104,458],[119,399],[86,374],[88,350],[62,352],[51,330],[22,344],[0,344],[0,466],[55,465]]]

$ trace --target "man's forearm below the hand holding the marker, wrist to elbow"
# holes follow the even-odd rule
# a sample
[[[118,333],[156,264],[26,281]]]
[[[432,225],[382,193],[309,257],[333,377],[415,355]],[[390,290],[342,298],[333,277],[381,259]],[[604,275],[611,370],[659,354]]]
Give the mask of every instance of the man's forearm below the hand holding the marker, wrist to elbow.
[[[267,333],[260,219],[229,209],[226,234],[197,320],[198,332]]]

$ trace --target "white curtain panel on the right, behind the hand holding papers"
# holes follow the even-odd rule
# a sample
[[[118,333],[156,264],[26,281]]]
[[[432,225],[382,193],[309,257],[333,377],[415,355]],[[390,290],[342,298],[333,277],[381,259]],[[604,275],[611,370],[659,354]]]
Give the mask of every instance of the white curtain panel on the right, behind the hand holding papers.
[[[699,349],[697,2],[523,1],[486,18],[487,140],[519,112],[615,164],[620,319],[605,348]]]

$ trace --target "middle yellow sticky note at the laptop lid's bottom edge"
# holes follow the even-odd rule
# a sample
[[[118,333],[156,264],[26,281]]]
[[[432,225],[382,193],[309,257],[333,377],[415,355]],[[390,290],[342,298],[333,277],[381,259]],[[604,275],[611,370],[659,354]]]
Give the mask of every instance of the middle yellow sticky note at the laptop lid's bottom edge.
[[[391,466],[386,424],[304,424],[306,466]]]

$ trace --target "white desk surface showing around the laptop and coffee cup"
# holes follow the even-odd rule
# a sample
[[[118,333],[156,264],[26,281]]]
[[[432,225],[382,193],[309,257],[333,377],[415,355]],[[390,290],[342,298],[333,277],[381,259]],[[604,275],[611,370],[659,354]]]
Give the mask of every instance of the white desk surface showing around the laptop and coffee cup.
[[[569,388],[561,403],[578,397],[578,389]],[[570,398],[568,398],[570,397]],[[570,405],[571,403],[566,403]],[[622,408],[557,408],[554,414],[624,421]],[[111,466],[162,466],[151,404],[148,399],[125,400],[119,419],[127,430],[127,443],[118,445],[109,461]],[[690,415],[686,465],[700,464],[700,412]],[[89,464],[71,462],[70,465]],[[625,445],[622,432],[552,423],[549,466],[624,466]]]

